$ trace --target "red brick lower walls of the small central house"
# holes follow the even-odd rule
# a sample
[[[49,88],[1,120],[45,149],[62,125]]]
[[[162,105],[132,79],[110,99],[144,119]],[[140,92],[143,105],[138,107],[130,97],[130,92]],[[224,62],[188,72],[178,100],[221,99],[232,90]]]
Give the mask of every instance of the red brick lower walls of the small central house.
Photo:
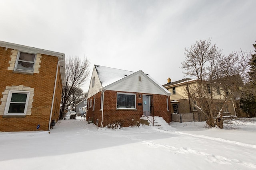
[[[116,98],[117,92],[120,91],[110,91],[106,90],[104,92],[104,108],[103,108],[103,126],[108,125],[108,123],[112,124],[114,121],[122,120],[124,121],[124,127],[128,127],[132,125],[132,120],[138,121],[143,114],[143,106],[138,106],[138,103],[142,103],[142,97],[139,99],[139,95],[142,93],[135,93],[136,94],[136,109],[137,110],[117,110],[116,109]],[[124,92],[125,93],[125,92]],[[131,92],[129,92],[131,93]],[[150,94],[148,94],[150,95]],[[95,97],[95,109],[93,109],[93,98]],[[167,111],[167,104],[166,104],[166,97],[165,95],[158,95],[153,94],[153,102],[154,102],[154,116],[161,116],[163,117],[166,122],[170,122],[171,114]],[[92,108],[90,108],[90,99],[92,99]],[[169,102],[169,109],[170,109],[170,98],[168,99]],[[88,99],[88,106],[89,110],[87,111],[86,119],[90,117],[90,121],[96,124],[96,119],[99,119],[99,125],[101,123],[101,116],[102,111],[100,110],[100,103],[101,103],[101,92],[98,92],[96,95],[92,96]]]

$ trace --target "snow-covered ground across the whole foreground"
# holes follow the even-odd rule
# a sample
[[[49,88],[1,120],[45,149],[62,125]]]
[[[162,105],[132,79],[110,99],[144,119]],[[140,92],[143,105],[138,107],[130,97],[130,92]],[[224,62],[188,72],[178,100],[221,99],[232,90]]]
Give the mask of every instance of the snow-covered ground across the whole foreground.
[[[250,121],[247,121],[250,120]],[[98,129],[61,120],[48,131],[0,132],[1,170],[256,169],[256,119],[230,128],[205,122]]]

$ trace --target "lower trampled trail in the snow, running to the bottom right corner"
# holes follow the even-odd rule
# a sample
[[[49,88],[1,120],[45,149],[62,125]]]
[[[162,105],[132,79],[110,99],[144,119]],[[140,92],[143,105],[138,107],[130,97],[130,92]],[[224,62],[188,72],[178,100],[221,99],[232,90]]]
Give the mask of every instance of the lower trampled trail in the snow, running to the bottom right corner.
[[[154,148],[158,148],[158,147],[162,147],[162,148],[166,148],[168,150],[170,150],[170,152],[173,153],[178,153],[178,154],[197,154],[197,155],[202,155],[205,156],[206,159],[208,159],[210,162],[216,162],[218,164],[242,164],[244,166],[248,166],[250,168],[256,168],[255,164],[249,163],[249,162],[245,162],[245,161],[240,161],[237,159],[229,159],[226,158],[224,156],[219,156],[219,155],[214,155],[214,154],[208,154],[206,152],[202,152],[202,151],[198,151],[198,150],[193,150],[187,147],[173,147],[173,146],[169,146],[169,145],[163,145],[163,144],[158,144],[158,143],[154,143],[152,141],[142,141],[143,144],[148,145],[149,147],[154,147]]]

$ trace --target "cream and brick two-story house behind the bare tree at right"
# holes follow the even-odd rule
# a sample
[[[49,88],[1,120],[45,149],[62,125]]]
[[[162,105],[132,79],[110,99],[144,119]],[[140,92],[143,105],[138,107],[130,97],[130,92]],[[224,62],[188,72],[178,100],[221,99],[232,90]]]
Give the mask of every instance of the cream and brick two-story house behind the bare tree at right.
[[[176,82],[171,82],[171,79],[168,78],[167,81],[168,83],[164,84],[163,86],[172,93],[172,95],[170,96],[171,112],[178,114],[172,116],[172,121],[205,121],[205,116],[200,113],[198,109],[194,106],[196,102],[189,100],[188,95],[188,90],[191,91],[190,88],[193,88],[193,86],[197,84],[198,80],[184,78]],[[212,88],[213,87],[209,86],[208,93],[214,93],[212,95],[214,96],[214,101],[216,102],[216,104],[218,105],[218,103],[223,103],[223,96],[225,96],[224,92],[221,89],[216,89],[213,91]],[[228,103],[228,106],[224,109],[224,115],[236,115],[234,103]]]

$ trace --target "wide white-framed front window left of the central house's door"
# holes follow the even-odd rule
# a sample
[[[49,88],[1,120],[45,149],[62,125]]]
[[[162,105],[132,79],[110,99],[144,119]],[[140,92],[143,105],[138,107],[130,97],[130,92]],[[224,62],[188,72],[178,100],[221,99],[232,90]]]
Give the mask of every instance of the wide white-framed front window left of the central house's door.
[[[117,93],[116,108],[136,109],[136,94]]]

